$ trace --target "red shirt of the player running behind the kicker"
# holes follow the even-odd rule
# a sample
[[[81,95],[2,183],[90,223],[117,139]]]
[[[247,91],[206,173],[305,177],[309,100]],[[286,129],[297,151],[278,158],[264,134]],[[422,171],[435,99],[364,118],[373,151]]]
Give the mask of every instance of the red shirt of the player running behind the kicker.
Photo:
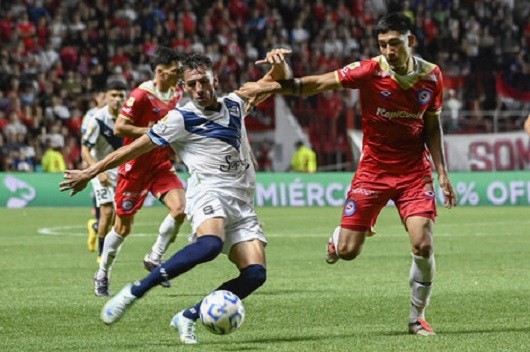
[[[149,127],[175,109],[182,99],[178,88],[171,88],[167,93],[157,91],[153,81],[142,83],[134,89],[120,111],[134,126]],[[124,137],[124,144],[132,143],[135,137]],[[119,167],[120,175],[129,179],[144,175],[150,170],[171,169],[173,163],[168,158],[170,148],[156,148],[148,153],[126,162]]]

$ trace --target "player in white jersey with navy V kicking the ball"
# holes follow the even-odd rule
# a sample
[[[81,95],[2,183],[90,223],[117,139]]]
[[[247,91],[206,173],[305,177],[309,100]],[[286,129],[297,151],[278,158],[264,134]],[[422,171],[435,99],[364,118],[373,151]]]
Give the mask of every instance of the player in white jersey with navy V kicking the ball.
[[[290,51],[273,49],[271,61],[283,62]],[[190,55],[184,62],[184,89],[190,101],[170,111],[146,135],[118,149],[85,170],[67,170],[62,191],[74,195],[104,170],[159,146],[171,145],[191,174],[186,190],[186,214],[195,241],[175,253],[158,270],[134,284],[126,285],[105,304],[101,319],[106,324],[118,321],[126,309],[161,281],[175,278],[194,266],[228,255],[240,274],[217,287],[244,299],[266,280],[266,240],[253,206],[255,170],[246,142],[244,117],[258,101],[239,91],[218,98],[217,76],[212,61]],[[290,77],[287,65],[273,65],[262,79]],[[198,307],[177,313],[171,320],[185,344],[195,344]]]

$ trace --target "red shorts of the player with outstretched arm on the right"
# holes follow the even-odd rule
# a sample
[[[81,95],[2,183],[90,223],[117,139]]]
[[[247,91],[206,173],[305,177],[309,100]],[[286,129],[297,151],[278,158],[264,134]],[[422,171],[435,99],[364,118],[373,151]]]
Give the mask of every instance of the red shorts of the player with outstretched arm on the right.
[[[389,200],[394,201],[403,221],[413,215],[434,221],[436,199],[430,170],[409,175],[357,171],[344,203],[341,227],[370,230]]]

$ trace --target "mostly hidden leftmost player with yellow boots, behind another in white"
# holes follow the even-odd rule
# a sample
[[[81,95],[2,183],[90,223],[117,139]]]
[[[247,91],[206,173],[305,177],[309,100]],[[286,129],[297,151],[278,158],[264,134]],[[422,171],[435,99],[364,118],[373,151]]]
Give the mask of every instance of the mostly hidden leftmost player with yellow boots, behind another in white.
[[[101,109],[103,106],[105,106],[105,91],[104,90],[98,90],[94,92],[94,102],[96,105],[88,110],[83,116],[83,121],[81,122],[81,137],[85,134],[89,122],[94,118],[96,115],[96,112]],[[82,154],[81,157],[85,163],[85,166],[88,165],[86,162],[86,159],[90,155],[90,151],[88,148],[81,148]],[[91,196],[92,203],[94,205],[94,218],[89,219],[87,221],[87,230],[88,230],[88,239],[87,239],[87,246],[88,250],[90,252],[95,252],[97,247],[97,240],[98,240],[98,221],[99,221],[99,208],[96,206],[96,198],[94,194]],[[101,251],[98,253],[98,258],[101,255]]]

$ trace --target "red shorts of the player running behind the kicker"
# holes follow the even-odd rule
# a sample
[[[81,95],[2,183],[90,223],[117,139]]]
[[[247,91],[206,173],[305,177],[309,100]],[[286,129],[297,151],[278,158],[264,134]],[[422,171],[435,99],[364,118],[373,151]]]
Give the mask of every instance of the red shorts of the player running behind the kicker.
[[[149,192],[160,199],[160,196],[172,189],[184,189],[182,181],[172,169],[146,171],[142,175],[120,174],[116,187],[116,214],[136,214],[142,208]]]

